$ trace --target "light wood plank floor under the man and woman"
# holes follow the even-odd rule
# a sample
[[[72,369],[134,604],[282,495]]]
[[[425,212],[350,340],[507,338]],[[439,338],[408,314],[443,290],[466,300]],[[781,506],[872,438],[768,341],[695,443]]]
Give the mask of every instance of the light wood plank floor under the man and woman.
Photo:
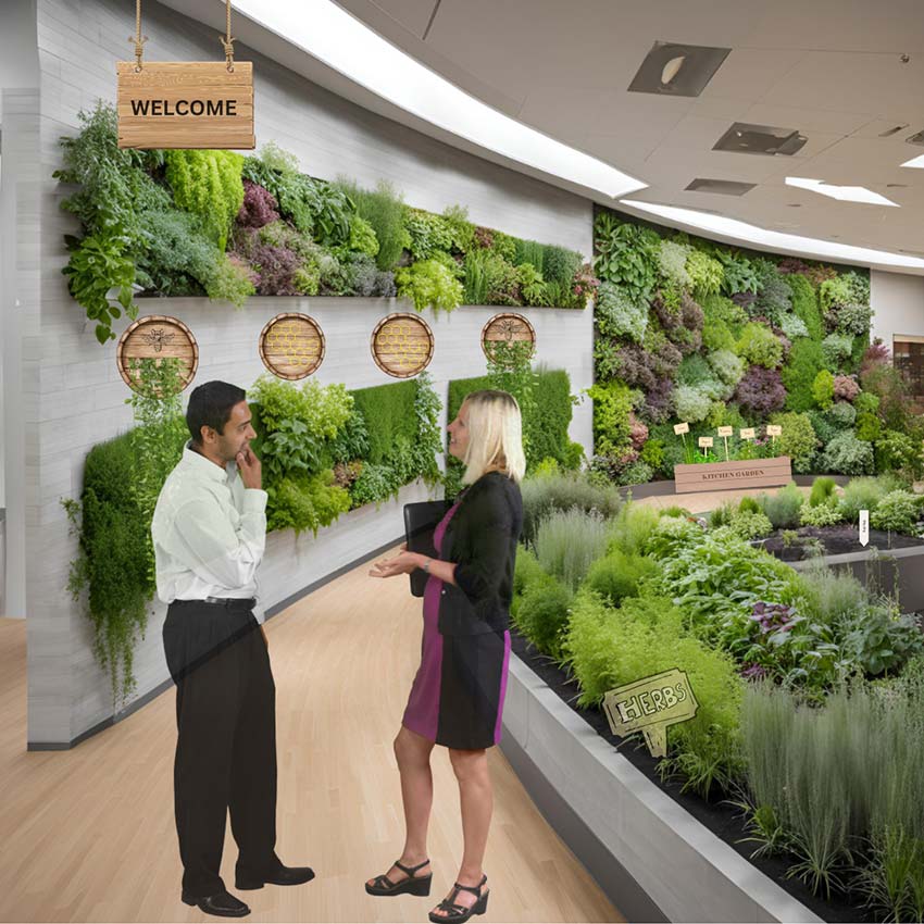
[[[458,788],[434,750],[429,899],[373,898],[403,826],[391,740],[420,660],[407,577],[344,575],[267,626],[277,687],[278,852],[317,878],[241,892],[251,921],[426,921],[461,856]],[[214,921],[179,901],[174,692],[71,751],[26,752],[25,624],[0,620],[0,920]],[[490,751],[495,819],[479,921],[623,921]],[[222,873],[234,891],[228,837]]]

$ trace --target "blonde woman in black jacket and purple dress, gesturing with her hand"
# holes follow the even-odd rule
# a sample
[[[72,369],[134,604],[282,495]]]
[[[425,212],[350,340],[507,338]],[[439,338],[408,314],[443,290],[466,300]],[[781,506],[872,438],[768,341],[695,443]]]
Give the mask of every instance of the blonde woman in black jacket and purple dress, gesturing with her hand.
[[[482,869],[492,808],[486,749],[501,733],[513,564],[523,525],[517,484],[526,460],[520,408],[505,391],[470,395],[447,429],[449,451],[465,463],[462,484],[469,487],[436,528],[439,559],[401,551],[370,572],[392,577],[422,567],[429,579],[421,666],[395,739],[404,849],[387,873],[366,883],[366,891],[429,895],[429,756],[434,745],[442,745],[459,783],[464,850],[455,884],[429,919],[462,924],[488,903]]]

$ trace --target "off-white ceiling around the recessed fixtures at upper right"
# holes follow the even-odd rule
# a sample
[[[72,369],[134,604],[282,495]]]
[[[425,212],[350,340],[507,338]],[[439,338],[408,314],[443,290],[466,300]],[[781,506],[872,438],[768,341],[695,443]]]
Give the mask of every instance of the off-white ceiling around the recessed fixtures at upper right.
[[[900,166],[924,154],[904,141],[924,129],[924,0],[337,2],[473,96],[649,184],[633,198],[924,254],[924,171]],[[655,40],[733,50],[698,99],[627,92]],[[713,151],[733,121],[809,141],[794,157]],[[901,208],[839,202],[787,175],[865,186]],[[685,191],[696,177],[758,186]]]

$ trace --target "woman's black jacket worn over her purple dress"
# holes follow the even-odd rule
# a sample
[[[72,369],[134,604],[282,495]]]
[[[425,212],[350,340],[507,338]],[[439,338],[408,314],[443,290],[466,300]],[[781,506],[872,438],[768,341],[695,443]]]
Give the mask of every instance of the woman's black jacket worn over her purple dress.
[[[515,482],[487,472],[463,494],[446,528],[440,559],[457,562],[455,585],[444,582],[441,635],[502,633],[510,623],[513,565],[523,528]]]

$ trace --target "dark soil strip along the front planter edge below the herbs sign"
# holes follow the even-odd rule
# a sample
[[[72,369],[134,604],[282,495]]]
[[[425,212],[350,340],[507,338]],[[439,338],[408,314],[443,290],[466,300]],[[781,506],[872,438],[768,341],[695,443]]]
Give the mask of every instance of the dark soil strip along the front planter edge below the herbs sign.
[[[871,538],[872,544],[872,538]],[[750,859],[750,854],[758,847],[757,844],[741,844],[748,837],[745,828],[745,819],[740,811],[721,801],[721,794],[716,792],[714,802],[707,802],[699,796],[690,792],[680,792],[680,783],[677,781],[662,782],[658,773],[658,759],[652,758],[645,745],[636,747],[634,741],[626,741],[615,737],[610,732],[607,719],[599,709],[578,709],[575,706],[578,689],[577,682],[569,679],[564,671],[560,670],[553,661],[536,649],[523,638],[515,629],[511,628],[512,649],[514,653],[527,664],[539,676],[539,678],[558,696],[566,702],[594,731],[605,738],[615,750],[637,770],[641,771],[649,779],[657,784],[675,802],[684,807],[697,821],[706,825],[713,834],[721,837],[735,851],[757,866],[762,873],[773,879],[781,888],[786,889],[794,898],[810,908],[820,917],[831,922],[862,922],[872,921],[869,910],[857,908],[840,897],[832,901],[824,901],[812,895],[807,886],[799,879],[787,879],[786,871],[797,862],[795,859],[779,857],[761,857]]]

